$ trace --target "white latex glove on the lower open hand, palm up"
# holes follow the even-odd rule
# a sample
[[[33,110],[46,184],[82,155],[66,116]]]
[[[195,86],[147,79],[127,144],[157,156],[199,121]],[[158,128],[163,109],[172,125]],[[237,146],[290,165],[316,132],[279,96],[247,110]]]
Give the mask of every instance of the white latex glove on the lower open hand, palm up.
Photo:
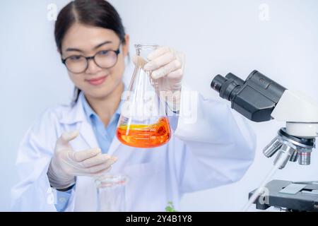
[[[99,148],[75,152],[69,141],[78,131],[66,132],[57,140],[47,176],[54,189],[66,189],[75,184],[76,176],[99,177],[110,170],[117,157],[101,154]]]

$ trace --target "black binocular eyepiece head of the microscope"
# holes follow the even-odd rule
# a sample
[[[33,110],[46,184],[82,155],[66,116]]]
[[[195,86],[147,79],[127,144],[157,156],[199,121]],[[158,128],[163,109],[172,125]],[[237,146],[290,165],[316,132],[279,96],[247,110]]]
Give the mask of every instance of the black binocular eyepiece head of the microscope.
[[[229,100],[237,112],[257,122],[271,120],[271,113],[286,90],[259,71],[250,73],[246,81],[232,73],[218,75],[211,88]]]

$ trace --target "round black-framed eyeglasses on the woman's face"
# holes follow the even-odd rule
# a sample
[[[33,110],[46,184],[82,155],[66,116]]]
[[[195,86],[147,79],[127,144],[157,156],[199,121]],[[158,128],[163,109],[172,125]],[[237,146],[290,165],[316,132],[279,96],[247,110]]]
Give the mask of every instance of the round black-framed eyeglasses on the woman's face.
[[[66,69],[71,73],[83,73],[88,69],[88,61],[93,59],[95,64],[102,69],[110,69],[116,63],[118,55],[120,53],[120,46],[117,50],[102,50],[96,53],[93,57],[84,57],[83,55],[73,55],[61,59],[62,63],[66,66]]]

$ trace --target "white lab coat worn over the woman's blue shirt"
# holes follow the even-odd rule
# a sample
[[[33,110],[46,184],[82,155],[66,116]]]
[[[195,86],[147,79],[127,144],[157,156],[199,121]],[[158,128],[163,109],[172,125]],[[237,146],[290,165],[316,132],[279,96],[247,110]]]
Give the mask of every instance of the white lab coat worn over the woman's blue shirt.
[[[236,182],[251,165],[255,137],[245,119],[225,102],[205,100],[199,95],[197,120],[189,123],[182,116],[182,111],[187,111],[187,99],[182,96],[179,120],[170,117],[172,127],[177,129],[166,145],[142,150],[113,139],[108,153],[118,160],[112,173],[129,177],[126,210],[165,211],[168,201],[178,209],[183,194]],[[56,211],[47,169],[57,138],[64,131],[76,129],[80,136],[71,141],[74,150],[98,147],[81,98],[74,107],[47,110],[31,126],[18,150],[20,182],[11,192],[13,210]],[[77,177],[66,211],[95,211],[96,197],[94,179]]]

